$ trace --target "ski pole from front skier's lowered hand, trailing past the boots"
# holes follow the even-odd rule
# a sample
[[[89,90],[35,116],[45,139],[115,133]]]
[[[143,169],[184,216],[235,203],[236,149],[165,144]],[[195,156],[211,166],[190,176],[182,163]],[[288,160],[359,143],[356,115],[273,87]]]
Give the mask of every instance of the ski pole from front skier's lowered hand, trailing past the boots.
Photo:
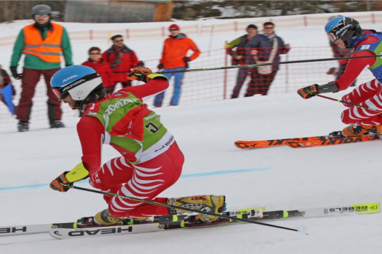
[[[86,192],[93,192],[93,193],[98,193],[98,194],[102,194],[102,195],[108,195],[108,196],[128,199],[128,200],[132,200],[132,201],[139,201],[139,202],[147,203],[147,204],[151,204],[151,205],[165,206],[165,207],[168,207],[168,208],[176,208],[176,209],[186,210],[186,211],[194,212],[194,213],[203,213],[203,214],[212,215],[212,216],[216,216],[216,217],[232,219],[232,220],[237,220],[237,221],[243,221],[243,222],[246,222],[246,223],[258,224],[258,225],[267,226],[267,227],[291,230],[291,231],[301,232],[303,234],[308,235],[304,228],[302,228],[302,229],[286,228],[286,227],[281,227],[281,226],[277,226],[277,225],[261,223],[259,221],[255,221],[255,220],[236,218],[236,217],[231,217],[231,216],[224,215],[224,214],[218,214],[218,213],[213,213],[213,212],[205,212],[205,211],[200,211],[200,210],[194,210],[194,209],[188,208],[188,207],[180,207],[180,206],[168,205],[168,204],[163,204],[163,203],[159,203],[159,202],[155,202],[155,201],[138,199],[138,198],[132,198],[132,197],[127,197],[127,196],[118,195],[118,194],[114,194],[114,193],[102,192],[101,190],[95,190],[95,189],[88,189],[88,188],[78,187],[78,186],[74,186],[74,185],[70,186],[70,188],[85,190]]]

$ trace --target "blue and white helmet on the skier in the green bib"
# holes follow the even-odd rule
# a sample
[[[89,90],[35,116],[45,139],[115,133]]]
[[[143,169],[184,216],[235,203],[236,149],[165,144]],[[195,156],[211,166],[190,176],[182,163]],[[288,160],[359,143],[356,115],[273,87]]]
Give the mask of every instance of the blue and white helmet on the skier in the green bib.
[[[93,68],[72,65],[54,73],[50,86],[59,100],[65,99],[70,94],[74,101],[81,102],[94,89],[102,87],[102,79]]]

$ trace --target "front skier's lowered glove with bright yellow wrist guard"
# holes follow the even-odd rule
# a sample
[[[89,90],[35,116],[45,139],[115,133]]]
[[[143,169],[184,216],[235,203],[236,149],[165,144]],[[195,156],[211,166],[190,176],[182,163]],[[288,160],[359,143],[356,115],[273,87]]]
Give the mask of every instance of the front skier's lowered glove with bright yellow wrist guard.
[[[50,188],[59,192],[67,192],[74,182],[85,179],[89,176],[89,171],[83,163],[75,166],[71,171],[65,171],[56,179],[50,182]]]

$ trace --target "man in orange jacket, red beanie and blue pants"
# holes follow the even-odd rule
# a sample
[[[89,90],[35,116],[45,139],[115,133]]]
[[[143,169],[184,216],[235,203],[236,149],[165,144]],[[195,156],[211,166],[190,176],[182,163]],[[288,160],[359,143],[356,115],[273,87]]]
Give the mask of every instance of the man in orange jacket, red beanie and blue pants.
[[[171,35],[165,40],[163,45],[162,58],[159,61],[158,69],[163,69],[164,72],[185,70],[188,68],[188,62],[196,59],[200,50],[195,42],[189,39],[185,34],[179,32],[179,26],[172,24],[169,27]],[[188,50],[194,51],[190,56],[187,56]],[[184,72],[166,73],[165,75],[169,80],[172,76],[175,77],[174,94],[171,99],[170,105],[176,106],[179,104],[180,89],[184,77]],[[165,92],[161,92],[155,96],[154,106],[161,107]]]

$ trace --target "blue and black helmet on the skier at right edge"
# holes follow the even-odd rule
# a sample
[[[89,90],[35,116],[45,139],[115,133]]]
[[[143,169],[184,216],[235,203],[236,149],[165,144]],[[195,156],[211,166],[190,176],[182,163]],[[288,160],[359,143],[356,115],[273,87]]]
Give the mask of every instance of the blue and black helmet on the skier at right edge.
[[[358,21],[343,16],[336,17],[326,23],[325,32],[332,42],[341,39],[345,45],[347,45],[347,42],[354,36],[362,35],[362,29]]]

